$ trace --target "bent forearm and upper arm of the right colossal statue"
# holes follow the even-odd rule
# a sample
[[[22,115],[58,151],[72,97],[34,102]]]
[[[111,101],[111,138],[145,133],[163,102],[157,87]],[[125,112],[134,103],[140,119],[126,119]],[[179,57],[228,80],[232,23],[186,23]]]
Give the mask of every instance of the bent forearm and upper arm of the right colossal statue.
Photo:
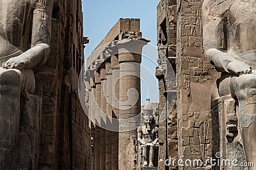
[[[210,15],[209,5],[210,0],[205,0],[202,6],[205,57],[207,57],[209,61],[213,62],[218,71],[238,75],[250,73],[250,66],[230,57],[227,52],[221,52],[218,50],[218,37],[220,37],[220,35],[218,35],[220,34],[220,28],[218,26],[221,24],[221,21],[223,21],[223,18],[220,18],[220,16]]]

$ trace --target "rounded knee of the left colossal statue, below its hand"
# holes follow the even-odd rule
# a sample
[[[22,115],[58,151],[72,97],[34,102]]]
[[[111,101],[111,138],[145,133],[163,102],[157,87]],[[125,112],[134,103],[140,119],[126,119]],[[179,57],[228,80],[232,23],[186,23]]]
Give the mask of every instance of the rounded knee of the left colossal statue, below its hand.
[[[13,69],[6,69],[0,73],[0,85],[19,86],[20,75]]]

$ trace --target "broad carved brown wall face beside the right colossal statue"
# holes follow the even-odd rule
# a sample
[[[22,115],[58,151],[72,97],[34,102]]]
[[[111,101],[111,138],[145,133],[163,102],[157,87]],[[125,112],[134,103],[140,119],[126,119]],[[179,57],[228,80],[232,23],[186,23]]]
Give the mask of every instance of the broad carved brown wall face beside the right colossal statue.
[[[179,158],[214,158],[211,86],[218,74],[207,62],[202,46],[203,1],[177,1],[177,112]],[[180,167],[180,169],[198,169]],[[211,169],[211,165],[200,169]]]

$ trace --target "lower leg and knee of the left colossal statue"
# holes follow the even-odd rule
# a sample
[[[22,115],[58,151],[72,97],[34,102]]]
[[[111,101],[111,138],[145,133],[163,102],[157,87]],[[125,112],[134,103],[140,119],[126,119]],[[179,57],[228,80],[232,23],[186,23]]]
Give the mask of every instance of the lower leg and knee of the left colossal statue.
[[[20,92],[25,86],[24,73],[0,68],[0,169],[12,166],[19,134]]]

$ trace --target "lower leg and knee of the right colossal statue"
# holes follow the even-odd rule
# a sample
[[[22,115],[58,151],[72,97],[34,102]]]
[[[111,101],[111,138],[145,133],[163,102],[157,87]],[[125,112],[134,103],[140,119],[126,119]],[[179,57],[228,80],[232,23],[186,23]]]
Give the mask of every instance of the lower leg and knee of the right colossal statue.
[[[239,101],[239,125],[246,161],[256,165],[256,74],[244,74],[234,78],[232,83]]]

